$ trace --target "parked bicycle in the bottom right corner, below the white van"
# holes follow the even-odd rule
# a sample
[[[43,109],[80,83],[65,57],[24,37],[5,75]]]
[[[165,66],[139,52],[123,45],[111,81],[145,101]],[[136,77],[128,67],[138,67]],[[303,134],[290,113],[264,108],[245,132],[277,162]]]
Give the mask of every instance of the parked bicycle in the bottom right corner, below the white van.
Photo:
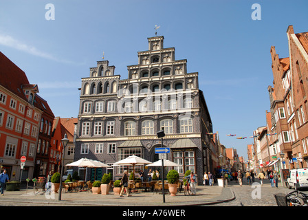
[[[308,195],[298,190],[289,192],[287,195],[278,193],[274,197],[277,206],[308,206]]]

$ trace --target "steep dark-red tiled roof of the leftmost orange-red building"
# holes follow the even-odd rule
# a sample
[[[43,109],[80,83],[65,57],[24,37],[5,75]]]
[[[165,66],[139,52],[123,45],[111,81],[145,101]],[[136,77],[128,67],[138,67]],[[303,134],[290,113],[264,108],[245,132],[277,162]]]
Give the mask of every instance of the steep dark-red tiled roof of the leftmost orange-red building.
[[[0,85],[28,102],[22,88],[29,84],[25,72],[0,52]]]

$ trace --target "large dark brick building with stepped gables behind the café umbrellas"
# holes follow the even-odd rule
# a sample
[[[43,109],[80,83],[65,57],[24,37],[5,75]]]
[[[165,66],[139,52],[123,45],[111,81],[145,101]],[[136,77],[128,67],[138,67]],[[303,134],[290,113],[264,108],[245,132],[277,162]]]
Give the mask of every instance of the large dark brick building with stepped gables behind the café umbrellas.
[[[113,164],[137,155],[155,162],[155,148],[161,147],[157,131],[164,129],[167,157],[182,165],[174,169],[181,177],[194,171],[201,184],[203,173],[213,172],[211,137],[206,134],[212,132],[212,122],[198,73],[187,72],[185,59],[175,60],[175,48],[164,48],[164,36],[148,38],[148,50],[137,54],[138,63],[127,67],[128,79],[115,75],[109,61],[98,61],[90,76],[82,78],[74,160],[87,157]],[[124,169],[132,166],[107,172],[118,179]],[[143,169],[136,166],[135,173]],[[99,169],[93,170],[87,170],[87,179],[100,179]]]

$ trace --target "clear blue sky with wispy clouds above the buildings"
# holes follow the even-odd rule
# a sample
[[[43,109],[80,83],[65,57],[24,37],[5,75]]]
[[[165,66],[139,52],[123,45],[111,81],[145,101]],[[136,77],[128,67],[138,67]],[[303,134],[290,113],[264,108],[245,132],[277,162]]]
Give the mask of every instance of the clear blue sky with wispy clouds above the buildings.
[[[81,78],[102,53],[126,79],[159,25],[164,47],[199,73],[213,132],[247,159],[249,136],[270,111],[270,47],[289,56],[287,28],[307,32],[307,8],[307,0],[0,0],[0,51],[39,85],[54,115],[76,118]]]

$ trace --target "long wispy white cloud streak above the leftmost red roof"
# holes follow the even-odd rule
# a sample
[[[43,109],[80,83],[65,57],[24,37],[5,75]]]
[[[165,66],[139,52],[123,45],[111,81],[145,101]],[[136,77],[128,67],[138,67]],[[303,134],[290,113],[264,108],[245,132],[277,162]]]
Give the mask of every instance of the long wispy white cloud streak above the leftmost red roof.
[[[46,52],[42,52],[41,50],[36,49],[36,47],[32,45],[27,45],[17,39],[14,39],[12,36],[9,35],[2,35],[0,34],[0,45],[4,45],[7,47],[12,47],[16,50],[21,50],[28,54],[32,54],[34,56],[39,56],[41,58],[46,58],[51,61],[61,62],[61,63],[72,63],[71,61],[65,61],[63,59],[58,59],[52,54],[48,54]]]

